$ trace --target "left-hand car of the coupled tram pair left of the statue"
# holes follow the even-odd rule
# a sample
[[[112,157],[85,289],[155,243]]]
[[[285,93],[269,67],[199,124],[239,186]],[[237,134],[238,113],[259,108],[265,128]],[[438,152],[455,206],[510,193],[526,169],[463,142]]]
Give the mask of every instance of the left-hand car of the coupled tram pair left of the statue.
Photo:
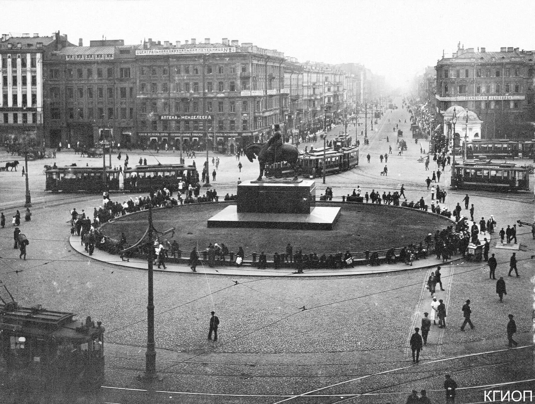
[[[57,167],[45,170],[44,175],[45,191],[73,193],[119,190],[120,172],[111,168]]]

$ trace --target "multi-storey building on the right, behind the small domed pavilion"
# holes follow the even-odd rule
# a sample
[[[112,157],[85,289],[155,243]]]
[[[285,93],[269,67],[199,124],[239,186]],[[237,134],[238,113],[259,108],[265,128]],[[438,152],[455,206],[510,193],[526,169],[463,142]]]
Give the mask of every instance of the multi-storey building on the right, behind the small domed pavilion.
[[[458,48],[437,63],[437,107],[459,105],[483,121],[482,138],[533,138],[533,51]]]

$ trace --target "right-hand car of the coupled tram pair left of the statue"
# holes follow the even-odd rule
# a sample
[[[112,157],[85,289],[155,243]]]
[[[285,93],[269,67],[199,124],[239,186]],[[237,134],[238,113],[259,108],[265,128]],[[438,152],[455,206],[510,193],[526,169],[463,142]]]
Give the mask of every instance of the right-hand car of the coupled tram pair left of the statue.
[[[194,166],[185,164],[151,164],[136,166],[124,171],[123,188],[125,191],[150,191],[167,188],[178,191],[179,183],[184,181],[186,188],[197,186],[199,176]]]

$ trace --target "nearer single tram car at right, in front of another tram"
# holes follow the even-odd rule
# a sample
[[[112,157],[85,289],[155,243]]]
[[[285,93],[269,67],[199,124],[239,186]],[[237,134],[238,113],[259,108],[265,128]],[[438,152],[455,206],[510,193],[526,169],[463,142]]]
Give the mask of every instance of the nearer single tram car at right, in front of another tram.
[[[464,161],[455,164],[452,188],[485,191],[528,191],[529,167],[516,167],[513,163]]]

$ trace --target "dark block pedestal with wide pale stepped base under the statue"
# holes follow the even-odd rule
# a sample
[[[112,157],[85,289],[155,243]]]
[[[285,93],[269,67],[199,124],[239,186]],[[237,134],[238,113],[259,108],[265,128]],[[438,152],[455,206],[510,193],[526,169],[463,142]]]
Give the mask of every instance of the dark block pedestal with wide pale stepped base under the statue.
[[[236,205],[208,220],[208,227],[332,230],[339,207],[316,207],[315,181],[251,182],[238,185]]]

